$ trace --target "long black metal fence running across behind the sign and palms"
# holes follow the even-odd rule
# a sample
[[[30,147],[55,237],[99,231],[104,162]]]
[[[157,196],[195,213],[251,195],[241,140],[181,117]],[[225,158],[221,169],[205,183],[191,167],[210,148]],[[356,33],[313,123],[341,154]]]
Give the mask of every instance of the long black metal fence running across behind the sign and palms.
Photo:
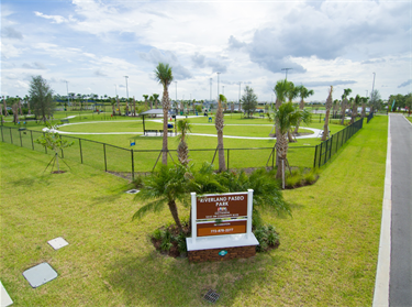
[[[13,127],[0,127],[1,141],[21,147],[30,149],[53,155],[54,153],[37,144],[35,140],[44,135],[42,131],[19,129]],[[62,156],[94,168],[121,174],[124,177],[134,179],[135,173],[152,172],[160,161],[162,150],[134,150],[124,149],[97,141],[68,136],[60,134],[74,144],[62,151]],[[314,146],[290,146],[288,160],[292,166],[312,167]],[[225,163],[229,168],[247,167],[274,167],[274,147],[243,147],[224,149]],[[169,161],[177,162],[177,151],[168,152]],[[218,152],[215,149],[190,150],[190,158],[198,166],[202,162],[211,162],[218,168]]]

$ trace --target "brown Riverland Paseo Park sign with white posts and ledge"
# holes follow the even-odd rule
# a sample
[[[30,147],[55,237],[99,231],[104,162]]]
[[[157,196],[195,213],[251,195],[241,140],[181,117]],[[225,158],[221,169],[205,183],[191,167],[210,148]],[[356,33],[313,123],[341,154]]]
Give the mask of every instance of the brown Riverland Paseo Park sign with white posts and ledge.
[[[213,260],[214,252],[222,256],[219,252],[223,248],[229,249],[224,257],[237,257],[231,252],[233,249],[237,249],[236,253],[243,253],[243,249],[256,246],[258,241],[252,232],[252,189],[200,196],[191,193],[192,233],[191,238],[186,239],[189,259],[192,253],[193,257],[196,254],[196,257]]]

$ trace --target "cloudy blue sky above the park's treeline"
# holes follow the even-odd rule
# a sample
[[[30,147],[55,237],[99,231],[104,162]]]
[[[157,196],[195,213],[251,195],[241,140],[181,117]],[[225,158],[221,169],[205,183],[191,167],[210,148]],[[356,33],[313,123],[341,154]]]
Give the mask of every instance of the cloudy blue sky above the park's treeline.
[[[288,80],[314,90],[308,100],[383,99],[412,91],[412,2],[407,1],[110,1],[2,0],[1,95],[24,97],[31,76],[56,94],[162,94],[153,70],[172,67],[171,99],[237,101],[250,86],[260,101]],[[177,88],[177,91],[176,91]]]

